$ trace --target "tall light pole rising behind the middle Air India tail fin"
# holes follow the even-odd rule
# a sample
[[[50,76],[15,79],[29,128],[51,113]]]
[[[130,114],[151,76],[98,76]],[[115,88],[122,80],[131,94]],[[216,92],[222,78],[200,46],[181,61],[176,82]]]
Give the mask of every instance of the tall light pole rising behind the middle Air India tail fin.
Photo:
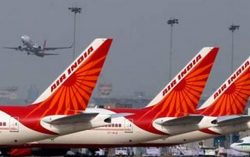
[[[174,27],[174,24],[179,24],[179,21],[176,18],[170,18],[167,21],[167,24],[170,25],[170,51],[169,51],[169,81],[170,81],[171,75],[172,75],[173,27]]]

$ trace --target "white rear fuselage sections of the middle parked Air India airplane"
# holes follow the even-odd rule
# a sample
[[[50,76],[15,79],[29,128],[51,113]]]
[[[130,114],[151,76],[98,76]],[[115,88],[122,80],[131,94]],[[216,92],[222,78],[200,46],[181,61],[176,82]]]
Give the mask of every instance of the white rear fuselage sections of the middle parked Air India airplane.
[[[109,109],[96,109],[88,108],[86,112],[98,112],[99,115],[118,114]],[[171,119],[171,118],[169,118]],[[145,141],[157,140],[160,138],[171,138],[171,136],[182,136],[182,133],[196,130],[197,128],[207,128],[208,126],[214,126],[211,123],[216,117],[205,117],[196,126],[175,126],[162,127],[153,122],[153,126],[161,132],[161,134],[152,133],[148,130],[137,126],[133,123],[133,119],[126,117],[112,118],[110,124],[104,125],[90,130],[80,131],[77,133],[59,136],[56,138],[37,141],[29,143],[30,145],[44,145],[44,146],[70,146],[70,147],[113,147],[113,146],[140,146],[141,144],[147,144]],[[149,122],[142,122],[149,123]],[[181,134],[181,135],[177,135]],[[178,140],[178,139],[177,139]],[[149,142],[150,143],[150,142]]]

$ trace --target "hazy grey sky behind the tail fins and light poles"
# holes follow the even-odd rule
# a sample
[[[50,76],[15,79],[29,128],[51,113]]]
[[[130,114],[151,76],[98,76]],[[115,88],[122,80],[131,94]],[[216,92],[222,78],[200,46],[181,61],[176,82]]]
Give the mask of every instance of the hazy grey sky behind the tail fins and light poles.
[[[220,47],[205,95],[230,74],[232,23],[240,25],[235,32],[235,68],[250,54],[249,0],[2,0],[1,47],[20,45],[23,34],[39,44],[46,39],[47,46],[70,45],[71,6],[83,9],[77,15],[77,54],[94,38],[114,39],[100,80],[113,84],[114,97],[144,91],[152,98],[169,81],[166,22],[171,17],[179,19],[174,27],[173,74],[202,47]],[[60,53],[38,58],[1,48],[0,87],[18,86],[20,97],[26,97],[31,84],[42,92],[72,61],[72,50]]]

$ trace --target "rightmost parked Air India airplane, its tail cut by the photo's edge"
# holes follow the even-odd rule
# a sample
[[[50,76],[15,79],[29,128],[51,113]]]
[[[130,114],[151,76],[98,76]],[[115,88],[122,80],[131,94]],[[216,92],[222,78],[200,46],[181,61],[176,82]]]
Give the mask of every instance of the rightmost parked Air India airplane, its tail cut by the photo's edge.
[[[141,143],[172,146],[250,129],[250,117],[242,115],[250,96],[250,57],[207,99],[197,114],[217,126]],[[237,127],[235,127],[237,126]]]

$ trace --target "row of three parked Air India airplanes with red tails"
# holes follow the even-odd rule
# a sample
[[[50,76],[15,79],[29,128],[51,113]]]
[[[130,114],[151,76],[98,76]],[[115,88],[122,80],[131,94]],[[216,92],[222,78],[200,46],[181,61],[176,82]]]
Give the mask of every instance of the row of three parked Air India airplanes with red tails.
[[[250,95],[250,57],[197,108],[216,47],[201,49],[144,108],[87,108],[111,42],[94,40],[32,105],[0,107],[6,123],[1,146],[169,146],[250,128],[250,117],[242,115]]]

